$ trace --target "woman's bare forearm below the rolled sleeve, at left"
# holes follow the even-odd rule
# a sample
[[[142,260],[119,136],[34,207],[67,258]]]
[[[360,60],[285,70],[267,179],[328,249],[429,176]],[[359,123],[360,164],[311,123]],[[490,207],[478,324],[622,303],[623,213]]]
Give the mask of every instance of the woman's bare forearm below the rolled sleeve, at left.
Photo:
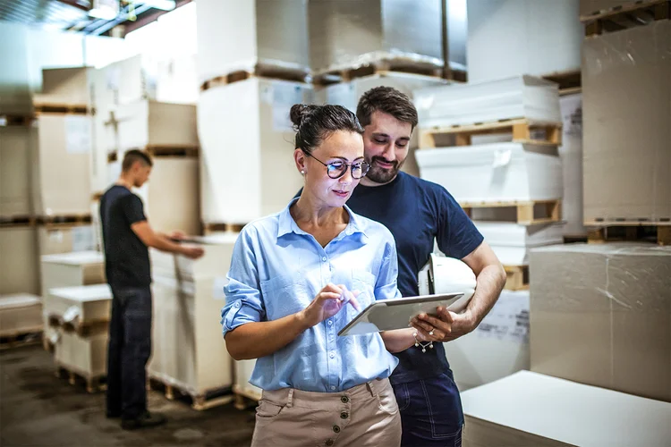
[[[266,357],[293,342],[308,327],[302,312],[273,321],[247,323],[226,333],[226,349],[235,360]]]

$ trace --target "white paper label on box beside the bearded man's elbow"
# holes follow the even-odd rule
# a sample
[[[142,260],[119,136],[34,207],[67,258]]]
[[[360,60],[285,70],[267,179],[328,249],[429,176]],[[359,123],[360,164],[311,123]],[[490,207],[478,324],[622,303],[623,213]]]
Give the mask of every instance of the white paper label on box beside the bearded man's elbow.
[[[501,297],[476,329],[480,337],[529,342],[529,299]]]

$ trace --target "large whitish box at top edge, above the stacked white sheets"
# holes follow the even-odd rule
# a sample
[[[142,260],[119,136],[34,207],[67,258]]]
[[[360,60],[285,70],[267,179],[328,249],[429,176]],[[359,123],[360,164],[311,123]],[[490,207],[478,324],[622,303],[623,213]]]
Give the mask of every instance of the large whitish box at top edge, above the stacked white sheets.
[[[468,0],[469,81],[579,72],[578,1]]]

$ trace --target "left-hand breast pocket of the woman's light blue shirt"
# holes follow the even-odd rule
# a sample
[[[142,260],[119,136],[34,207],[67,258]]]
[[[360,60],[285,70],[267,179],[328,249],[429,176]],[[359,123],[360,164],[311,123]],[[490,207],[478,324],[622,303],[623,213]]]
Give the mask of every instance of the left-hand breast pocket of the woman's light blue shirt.
[[[311,301],[299,272],[277,275],[268,281],[262,281],[261,294],[268,320],[300,312]]]

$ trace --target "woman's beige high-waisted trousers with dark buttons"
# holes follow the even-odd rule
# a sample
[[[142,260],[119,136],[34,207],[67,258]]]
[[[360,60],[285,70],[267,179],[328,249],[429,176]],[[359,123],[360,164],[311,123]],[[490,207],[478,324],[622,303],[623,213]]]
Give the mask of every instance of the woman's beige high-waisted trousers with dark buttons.
[[[388,379],[344,392],[264,391],[252,447],[398,447],[401,416]]]

